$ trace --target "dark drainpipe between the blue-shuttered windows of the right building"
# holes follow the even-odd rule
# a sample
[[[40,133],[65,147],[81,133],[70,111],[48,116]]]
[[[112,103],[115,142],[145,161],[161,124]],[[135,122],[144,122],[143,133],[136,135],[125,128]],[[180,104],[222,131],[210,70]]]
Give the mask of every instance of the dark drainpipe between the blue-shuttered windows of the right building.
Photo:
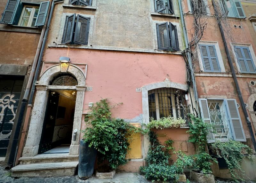
[[[217,12],[214,0],[212,0],[212,4],[213,4],[214,11]],[[241,103],[241,106],[242,106],[242,109],[243,109],[243,112],[244,112],[244,117],[245,117],[247,126],[249,128],[250,133],[251,133],[253,147],[254,147],[254,149],[256,149],[256,141],[255,141],[255,137],[254,137],[254,134],[253,134],[253,131],[252,131],[252,124],[251,124],[251,122],[249,120],[249,116],[248,116],[248,113],[247,113],[245,105],[244,105],[244,100],[243,100],[243,97],[242,97],[242,93],[240,91],[239,84],[238,84],[237,78],[236,78],[236,72],[235,72],[235,69],[234,69],[234,66],[233,66],[233,63],[232,63],[229,51],[228,51],[228,45],[227,45],[227,42],[226,42],[224,31],[223,31],[223,28],[222,28],[222,25],[221,25],[220,21],[218,20],[218,17],[217,17],[217,21],[218,21],[218,25],[220,27],[221,37],[222,37],[222,40],[223,40],[223,43],[224,43],[224,46],[225,46],[225,52],[226,52],[226,54],[228,56],[228,63],[229,63],[229,66],[231,68],[232,77],[233,77],[233,79],[235,81],[235,84],[236,84],[236,91],[237,91],[237,94],[238,94],[238,98],[240,100],[240,103]]]

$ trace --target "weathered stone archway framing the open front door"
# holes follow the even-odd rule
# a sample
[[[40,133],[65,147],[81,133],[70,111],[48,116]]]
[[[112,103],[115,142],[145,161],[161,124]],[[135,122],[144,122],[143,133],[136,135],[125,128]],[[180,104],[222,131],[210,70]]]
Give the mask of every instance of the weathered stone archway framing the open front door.
[[[54,86],[49,85],[52,78],[61,73],[68,73],[76,77],[76,86]],[[82,110],[85,92],[85,75],[83,71],[72,64],[57,64],[47,69],[36,84],[36,96],[31,112],[30,125],[22,157],[33,157],[38,154],[39,143],[42,135],[45,109],[49,94],[49,89],[72,89],[76,90],[76,106],[73,123],[73,131],[77,129],[76,139],[72,139],[69,148],[69,155],[78,155],[79,136],[82,122]]]

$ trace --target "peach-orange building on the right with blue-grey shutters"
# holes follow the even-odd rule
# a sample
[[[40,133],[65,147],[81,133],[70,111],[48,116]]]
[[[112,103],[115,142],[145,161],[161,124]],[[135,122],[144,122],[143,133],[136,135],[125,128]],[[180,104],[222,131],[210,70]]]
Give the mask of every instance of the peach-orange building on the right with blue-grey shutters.
[[[253,14],[256,2],[184,1],[189,41],[195,36],[198,16],[193,13],[197,11],[193,7],[199,2],[203,2],[198,12],[200,26],[205,29],[200,41],[192,47],[192,53],[201,116],[217,131],[209,135],[208,141],[233,139],[255,149],[256,32]],[[212,16],[214,14],[217,16]],[[225,170],[227,165],[218,161],[219,166],[213,168],[215,176],[229,178]],[[246,166],[247,176],[255,179],[254,168]]]

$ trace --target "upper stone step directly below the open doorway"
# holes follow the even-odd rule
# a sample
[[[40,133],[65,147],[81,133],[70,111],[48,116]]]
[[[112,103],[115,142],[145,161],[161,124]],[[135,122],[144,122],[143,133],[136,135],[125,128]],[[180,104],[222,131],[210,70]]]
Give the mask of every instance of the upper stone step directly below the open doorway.
[[[74,162],[78,161],[78,155],[40,154],[34,157],[21,157],[19,161],[20,164]]]

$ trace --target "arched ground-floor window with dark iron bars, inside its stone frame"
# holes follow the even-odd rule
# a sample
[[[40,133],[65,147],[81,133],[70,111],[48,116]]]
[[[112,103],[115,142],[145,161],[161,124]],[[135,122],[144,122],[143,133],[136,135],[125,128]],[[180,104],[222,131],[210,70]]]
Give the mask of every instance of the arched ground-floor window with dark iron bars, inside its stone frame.
[[[188,104],[185,95],[173,88],[158,88],[148,91],[149,117],[159,120],[172,116],[187,119]]]

